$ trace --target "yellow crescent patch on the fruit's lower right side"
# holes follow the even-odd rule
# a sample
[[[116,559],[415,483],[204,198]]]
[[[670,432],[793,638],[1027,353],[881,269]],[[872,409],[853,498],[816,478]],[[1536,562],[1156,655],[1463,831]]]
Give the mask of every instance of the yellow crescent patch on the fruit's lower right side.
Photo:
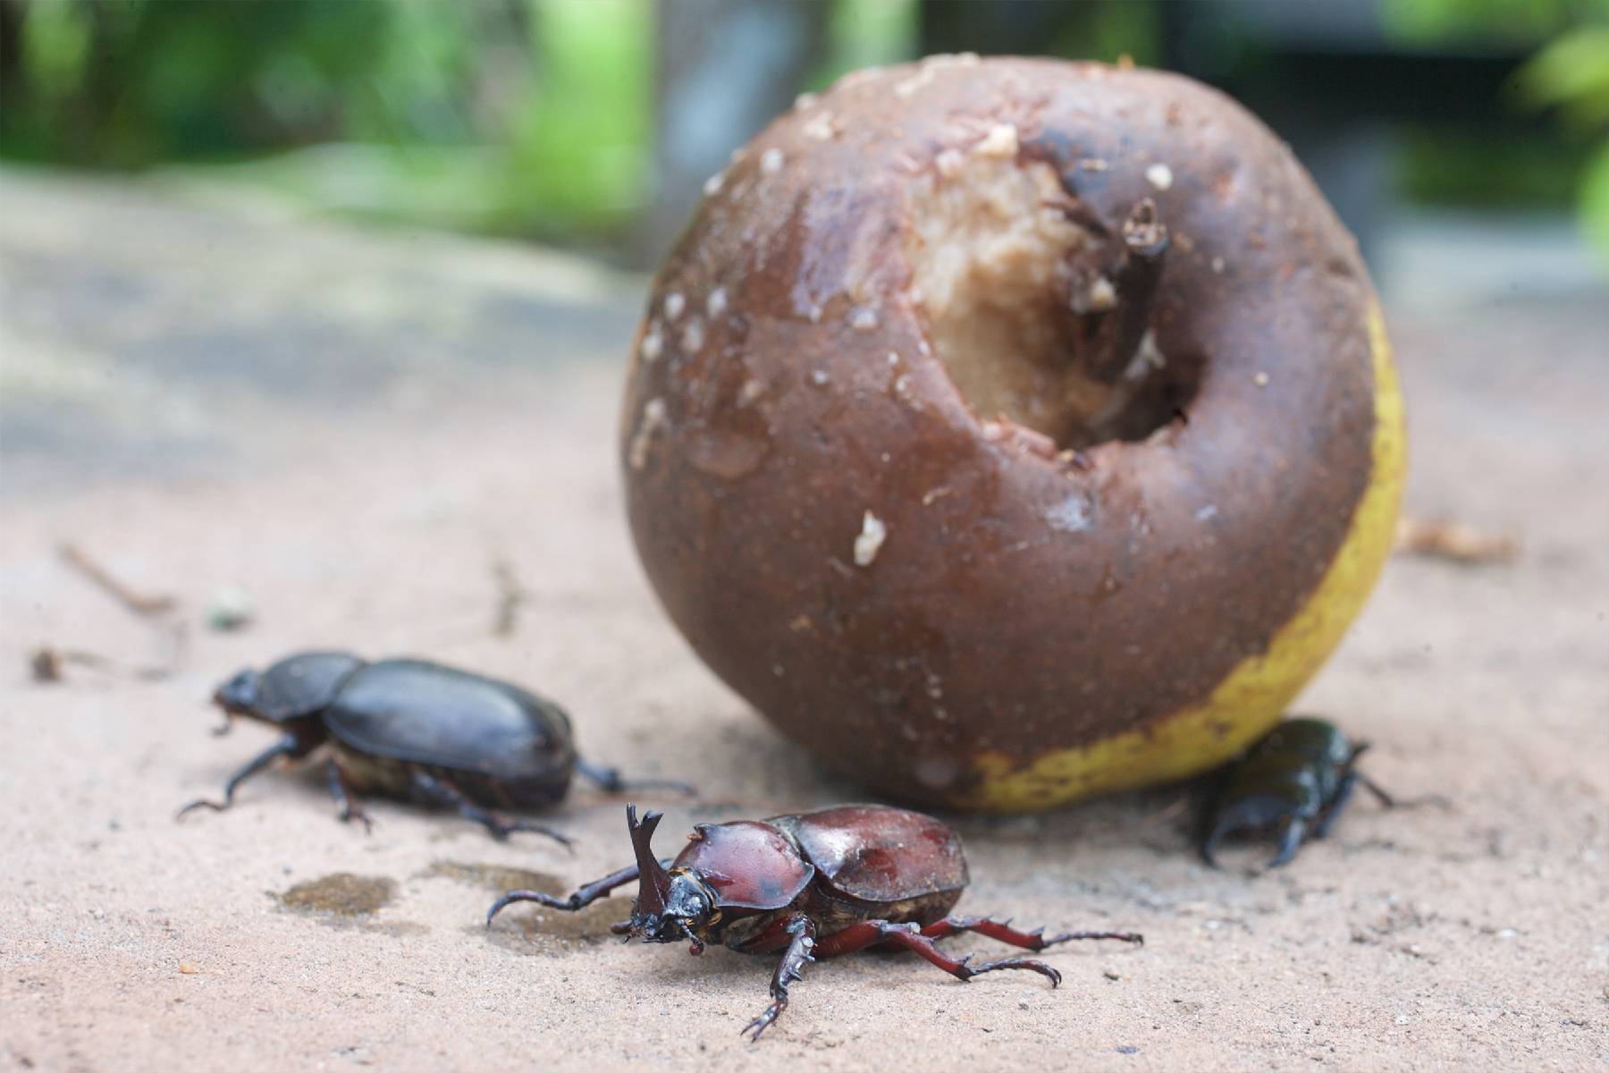
[[[1035,812],[1099,793],[1184,779],[1226,763],[1279,721],[1363,610],[1397,528],[1406,471],[1403,399],[1385,323],[1372,304],[1368,331],[1374,357],[1369,486],[1313,597],[1274,634],[1268,652],[1236,666],[1205,703],[1142,730],[1046,753],[1025,767],[1002,753],[983,753],[973,761],[981,782],[957,804],[990,812]]]

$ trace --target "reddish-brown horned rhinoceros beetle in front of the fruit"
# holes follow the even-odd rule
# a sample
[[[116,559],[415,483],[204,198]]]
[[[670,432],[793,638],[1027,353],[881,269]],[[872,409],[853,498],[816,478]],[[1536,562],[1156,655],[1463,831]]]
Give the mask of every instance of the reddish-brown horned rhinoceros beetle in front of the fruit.
[[[753,1039],[787,1009],[788,985],[803,980],[804,965],[819,957],[867,948],[907,949],[962,981],[999,968],[1028,968],[1056,986],[1062,975],[1041,960],[1007,957],[973,965],[970,956],[949,957],[933,941],[977,931],[1035,952],[1070,939],[1144,943],[1130,931],[1046,936],[1043,928],[1022,931],[1009,920],[948,915],[967,886],[967,859],[956,832],[920,812],[848,804],[763,820],[698,824],[668,867],[648,845],[660,819],[660,812],[648,812],[637,822],[636,806],[628,804],[636,864],[587,883],[570,898],[508,891],[488,911],[488,927],[516,901],[574,912],[636,880],[631,920],[611,928],[628,941],[687,939],[692,954],[702,954],[710,943],[742,954],[782,951],[771,976],[771,1005],[743,1028]]]

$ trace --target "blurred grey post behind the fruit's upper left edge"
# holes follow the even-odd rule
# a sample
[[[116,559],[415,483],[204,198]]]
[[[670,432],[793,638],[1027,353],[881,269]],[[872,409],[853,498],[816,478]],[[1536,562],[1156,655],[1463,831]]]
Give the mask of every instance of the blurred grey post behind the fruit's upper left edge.
[[[821,63],[829,3],[660,0],[655,191],[639,261],[658,264],[710,175],[787,108]]]

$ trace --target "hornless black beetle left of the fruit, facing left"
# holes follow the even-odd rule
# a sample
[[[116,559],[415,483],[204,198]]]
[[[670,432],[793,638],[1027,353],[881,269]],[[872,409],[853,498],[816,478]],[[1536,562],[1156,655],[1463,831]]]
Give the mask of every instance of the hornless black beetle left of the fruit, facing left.
[[[610,767],[576,756],[565,709],[508,682],[426,663],[367,663],[344,652],[302,652],[261,674],[241,671],[217,687],[225,734],[235,716],[280,727],[285,735],[224,787],[222,801],[191,801],[191,809],[227,809],[241,782],[285,756],[301,759],[330,743],[330,793],[343,820],[368,816],[357,790],[430,804],[449,804],[497,838],[539,832],[570,845],[555,830],[510,819],[497,808],[539,809],[565,796],[573,772],[607,791],[692,788],[668,780],[628,783]]]

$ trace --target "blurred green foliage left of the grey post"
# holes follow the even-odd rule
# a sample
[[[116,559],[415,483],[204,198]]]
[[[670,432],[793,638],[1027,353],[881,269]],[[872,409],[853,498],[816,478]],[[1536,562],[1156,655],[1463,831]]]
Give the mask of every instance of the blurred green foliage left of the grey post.
[[[11,11],[0,153],[13,159],[228,164],[208,174],[312,206],[571,240],[623,228],[645,190],[650,0]]]

